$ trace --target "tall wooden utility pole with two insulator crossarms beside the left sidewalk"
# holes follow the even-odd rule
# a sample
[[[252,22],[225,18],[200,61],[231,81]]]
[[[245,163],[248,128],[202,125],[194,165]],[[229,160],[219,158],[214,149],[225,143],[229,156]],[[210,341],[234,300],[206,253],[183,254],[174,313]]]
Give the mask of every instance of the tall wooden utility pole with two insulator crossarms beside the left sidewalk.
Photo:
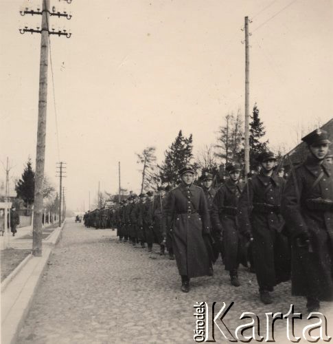
[[[34,221],[32,226],[32,254],[36,257],[42,255],[42,213],[43,213],[43,182],[44,182],[44,166],[45,166],[45,136],[46,136],[46,115],[47,115],[47,67],[49,60],[49,35],[58,34],[58,36],[71,36],[66,30],[55,32],[49,31],[49,17],[56,15],[58,18],[67,17],[71,19],[71,15],[66,12],[56,12],[55,8],[52,12],[49,10],[49,0],[43,0],[42,11],[37,8],[36,11],[25,8],[20,11],[21,16],[25,14],[40,14],[42,16],[41,30],[20,29],[21,34],[25,32],[41,34],[41,62],[39,68],[39,94],[38,94],[38,129],[37,129],[37,145],[36,145],[36,171],[35,171],[35,187],[34,187]]]

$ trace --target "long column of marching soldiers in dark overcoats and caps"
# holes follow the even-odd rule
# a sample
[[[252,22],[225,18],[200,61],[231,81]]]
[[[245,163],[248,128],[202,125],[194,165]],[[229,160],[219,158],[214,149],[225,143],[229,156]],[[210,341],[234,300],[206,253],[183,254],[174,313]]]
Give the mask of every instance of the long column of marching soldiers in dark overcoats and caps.
[[[319,310],[320,301],[333,299],[332,153],[326,131],[302,140],[308,158],[297,168],[290,162],[288,178],[276,155],[262,151],[259,172],[246,184],[240,164],[227,166],[218,190],[210,173],[201,176],[202,188],[196,186],[194,170],[185,166],[174,189],[131,195],[113,213],[119,242],[147,244],[148,252],[155,243],[161,255],[166,248],[183,292],[191,278],[213,275],[212,264],[221,257],[235,287],[240,264],[251,264],[262,303],[272,303],[274,287],[291,277],[292,294],[306,297],[309,312]]]

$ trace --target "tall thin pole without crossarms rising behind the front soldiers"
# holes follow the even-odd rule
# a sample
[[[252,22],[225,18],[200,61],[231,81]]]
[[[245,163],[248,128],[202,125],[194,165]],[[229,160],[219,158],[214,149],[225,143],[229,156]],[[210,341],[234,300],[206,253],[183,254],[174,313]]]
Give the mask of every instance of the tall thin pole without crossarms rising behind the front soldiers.
[[[249,98],[250,98],[250,59],[249,59],[249,17],[245,17],[245,180],[250,172],[250,140],[249,140]]]

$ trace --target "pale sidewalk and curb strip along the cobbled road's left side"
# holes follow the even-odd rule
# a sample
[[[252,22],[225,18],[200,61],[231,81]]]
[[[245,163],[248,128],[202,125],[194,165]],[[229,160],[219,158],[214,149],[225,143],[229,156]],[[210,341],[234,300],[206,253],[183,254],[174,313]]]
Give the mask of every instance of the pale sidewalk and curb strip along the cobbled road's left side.
[[[26,257],[10,274],[12,277],[4,287],[1,283],[1,343],[14,344],[16,342],[41,282],[47,261],[61,238],[65,224],[66,221],[61,227],[56,228],[47,240],[43,241],[45,245],[42,257],[29,255],[29,259]]]

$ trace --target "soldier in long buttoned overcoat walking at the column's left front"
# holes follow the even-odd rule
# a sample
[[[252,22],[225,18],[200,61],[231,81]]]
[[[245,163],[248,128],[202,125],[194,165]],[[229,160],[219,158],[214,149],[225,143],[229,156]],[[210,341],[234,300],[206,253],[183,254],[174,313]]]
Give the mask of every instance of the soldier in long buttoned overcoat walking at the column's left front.
[[[210,220],[203,189],[194,186],[194,170],[179,172],[181,184],[170,191],[168,217],[172,219],[172,247],[176,257],[181,290],[190,290],[190,278],[209,275],[209,255],[203,235],[209,235]]]

